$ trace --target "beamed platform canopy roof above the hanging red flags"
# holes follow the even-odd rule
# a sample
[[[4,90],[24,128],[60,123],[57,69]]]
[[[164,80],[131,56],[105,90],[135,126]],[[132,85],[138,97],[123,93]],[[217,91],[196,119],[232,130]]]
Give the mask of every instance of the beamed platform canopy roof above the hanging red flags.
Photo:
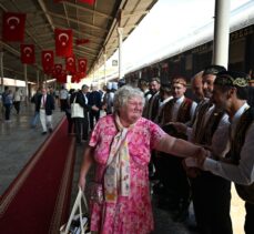
[[[1,0],[1,43],[3,77],[24,80],[20,44],[33,44],[35,62],[27,64],[28,81],[43,74],[41,53],[54,51],[54,63],[65,67],[65,59],[55,55],[55,29],[72,30],[75,59],[87,59],[89,74],[118,49],[118,27],[125,40],[158,0]],[[23,42],[3,40],[3,14],[26,14]],[[77,40],[80,40],[77,44]]]

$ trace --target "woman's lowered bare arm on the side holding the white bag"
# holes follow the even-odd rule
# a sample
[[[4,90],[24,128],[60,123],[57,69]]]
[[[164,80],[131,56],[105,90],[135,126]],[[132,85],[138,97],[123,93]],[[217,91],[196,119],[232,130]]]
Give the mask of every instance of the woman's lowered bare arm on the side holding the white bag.
[[[81,170],[80,170],[80,179],[79,179],[79,186],[81,187],[82,191],[84,191],[85,187],[85,176],[89,172],[89,169],[93,164],[93,151],[94,147],[88,146],[84,151],[83,155],[83,162],[81,164]]]

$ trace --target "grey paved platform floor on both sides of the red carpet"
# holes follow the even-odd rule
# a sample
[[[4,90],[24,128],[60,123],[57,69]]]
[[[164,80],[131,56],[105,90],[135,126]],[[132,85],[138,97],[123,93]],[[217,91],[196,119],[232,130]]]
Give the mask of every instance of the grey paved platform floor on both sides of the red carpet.
[[[35,129],[31,129],[30,120],[32,114],[33,105],[29,104],[28,106],[24,106],[22,104],[21,113],[19,115],[17,115],[16,111],[12,110],[11,122],[4,122],[2,120],[2,115],[0,115],[0,195],[7,190],[20,170],[26,165],[37,149],[48,136],[48,134],[41,135],[42,129],[40,123]],[[53,113],[53,125],[55,126],[63,116],[64,113],[57,109]],[[72,184],[72,202],[78,190],[79,169],[84,147],[85,143],[77,146],[77,157]],[[234,224],[234,233],[243,234],[243,202],[237,197],[234,190],[232,190],[232,220]],[[153,234],[195,233],[189,231],[186,225],[173,222],[169,212],[159,210],[155,205],[155,199],[153,200],[153,203],[155,217],[155,231]],[[194,220],[192,208],[190,208],[190,220],[192,223]]]

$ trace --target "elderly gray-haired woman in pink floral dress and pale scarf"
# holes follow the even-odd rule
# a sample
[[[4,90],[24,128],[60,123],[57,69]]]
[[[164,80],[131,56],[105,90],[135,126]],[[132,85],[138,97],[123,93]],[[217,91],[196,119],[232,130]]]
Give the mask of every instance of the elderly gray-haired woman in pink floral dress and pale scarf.
[[[95,163],[103,202],[91,201],[91,231],[100,234],[148,234],[153,231],[148,164],[155,149],[179,156],[204,154],[200,147],[172,138],[142,118],[143,93],[129,85],[115,92],[114,114],[95,125],[80,172],[79,185]]]

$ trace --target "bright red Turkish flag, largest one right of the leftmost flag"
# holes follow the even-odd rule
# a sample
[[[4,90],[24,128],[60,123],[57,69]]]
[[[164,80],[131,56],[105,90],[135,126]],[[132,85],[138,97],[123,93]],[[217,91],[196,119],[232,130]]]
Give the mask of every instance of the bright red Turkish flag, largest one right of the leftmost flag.
[[[55,54],[58,57],[72,55],[72,30],[71,29],[55,29]]]

